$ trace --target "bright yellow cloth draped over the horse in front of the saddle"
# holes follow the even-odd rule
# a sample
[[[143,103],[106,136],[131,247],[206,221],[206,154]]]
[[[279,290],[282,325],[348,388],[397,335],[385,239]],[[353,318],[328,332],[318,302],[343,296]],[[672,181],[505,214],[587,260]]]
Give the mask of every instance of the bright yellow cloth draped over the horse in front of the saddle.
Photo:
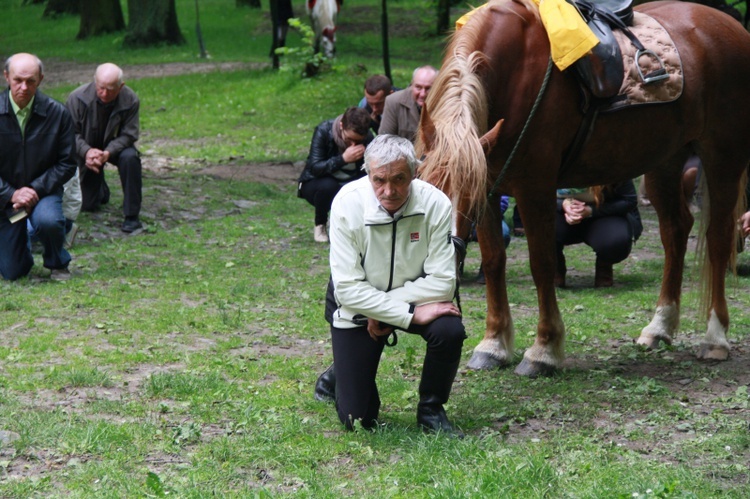
[[[547,30],[552,61],[560,71],[588,54],[599,39],[578,13],[578,10],[565,0],[532,0],[539,8],[539,16]],[[467,12],[456,21],[460,29],[469,18],[487,4]]]

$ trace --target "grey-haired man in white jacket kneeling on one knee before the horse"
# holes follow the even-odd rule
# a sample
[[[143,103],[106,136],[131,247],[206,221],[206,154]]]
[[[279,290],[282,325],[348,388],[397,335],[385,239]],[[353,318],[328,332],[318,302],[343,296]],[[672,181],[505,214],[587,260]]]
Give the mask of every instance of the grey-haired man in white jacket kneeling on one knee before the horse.
[[[404,330],[427,342],[417,423],[425,431],[453,433],[443,404],[466,334],[453,304],[451,203],[439,189],[414,178],[417,158],[408,140],[380,135],[364,159],[367,177],[345,185],[331,208],[326,316],[333,366],[318,378],[315,397],[335,393],[347,429],[357,420],[374,428],[380,356],[387,338]]]

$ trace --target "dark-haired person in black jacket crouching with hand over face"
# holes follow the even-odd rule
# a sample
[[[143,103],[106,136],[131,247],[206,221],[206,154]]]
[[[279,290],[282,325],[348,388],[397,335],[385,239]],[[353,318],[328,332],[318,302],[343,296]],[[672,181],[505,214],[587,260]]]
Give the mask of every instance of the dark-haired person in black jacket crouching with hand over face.
[[[328,212],[341,186],[365,175],[362,158],[372,139],[370,114],[363,108],[350,107],[315,127],[297,195],[315,207],[316,242],[328,242]]]

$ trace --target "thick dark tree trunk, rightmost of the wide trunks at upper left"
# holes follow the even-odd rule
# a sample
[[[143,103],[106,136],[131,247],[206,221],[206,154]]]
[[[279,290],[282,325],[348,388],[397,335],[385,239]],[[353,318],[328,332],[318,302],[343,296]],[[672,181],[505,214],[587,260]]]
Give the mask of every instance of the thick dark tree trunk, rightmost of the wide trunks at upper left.
[[[177,22],[175,0],[128,0],[128,17],[125,47],[185,43]]]

